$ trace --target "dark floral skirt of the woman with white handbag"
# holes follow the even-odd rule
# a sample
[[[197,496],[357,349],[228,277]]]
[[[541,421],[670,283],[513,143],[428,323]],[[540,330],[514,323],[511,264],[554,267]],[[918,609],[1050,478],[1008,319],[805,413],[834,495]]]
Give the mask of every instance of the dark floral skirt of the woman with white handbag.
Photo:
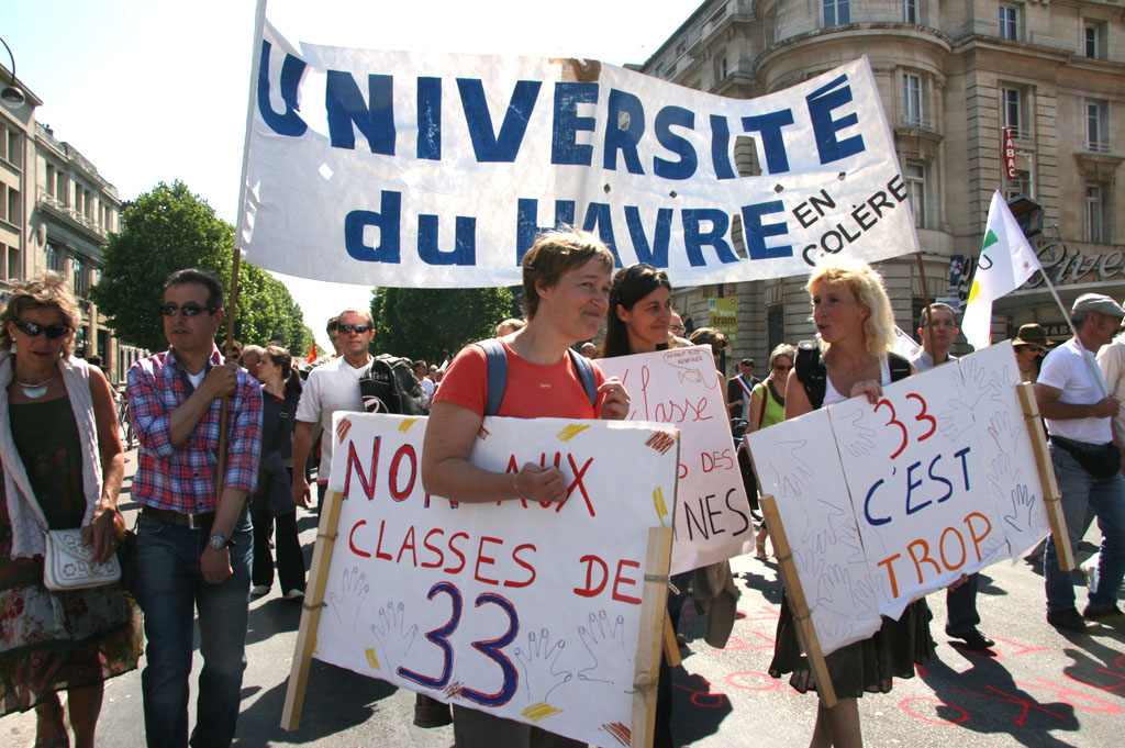
[[[0,717],[137,666],[141,611],[119,585],[52,593],[43,557],[0,549]]]

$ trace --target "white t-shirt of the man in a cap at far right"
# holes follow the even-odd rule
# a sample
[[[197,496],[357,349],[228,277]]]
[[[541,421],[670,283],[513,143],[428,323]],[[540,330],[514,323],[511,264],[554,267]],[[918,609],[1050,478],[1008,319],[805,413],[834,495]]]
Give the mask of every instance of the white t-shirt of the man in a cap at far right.
[[[1090,364],[1094,364],[1092,367]],[[1068,405],[1092,405],[1100,400],[1105,388],[1101,369],[1094,361],[1094,354],[1071,337],[1047,353],[1040,370],[1041,385],[1061,389],[1060,403]],[[1045,418],[1047,433],[1088,444],[1105,444],[1113,441],[1109,418]]]

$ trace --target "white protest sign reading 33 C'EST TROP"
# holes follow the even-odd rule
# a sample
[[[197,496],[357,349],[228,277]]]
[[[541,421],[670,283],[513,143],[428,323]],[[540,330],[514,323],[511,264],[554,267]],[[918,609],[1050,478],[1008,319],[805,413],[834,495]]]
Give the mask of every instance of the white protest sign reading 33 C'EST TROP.
[[[1010,343],[748,436],[825,654],[1048,529]]]

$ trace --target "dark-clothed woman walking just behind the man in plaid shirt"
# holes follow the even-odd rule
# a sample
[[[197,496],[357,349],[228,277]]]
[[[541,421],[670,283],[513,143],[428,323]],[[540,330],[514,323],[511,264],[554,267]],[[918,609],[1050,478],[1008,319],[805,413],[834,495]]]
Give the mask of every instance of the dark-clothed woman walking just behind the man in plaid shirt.
[[[297,539],[297,505],[292,503],[292,431],[300,402],[300,376],[292,357],[280,345],[268,345],[258,362],[262,382],[262,457],[258,468],[258,492],[250,501],[254,524],[254,556],[250,594],[260,597],[273,585],[273,555],[278,551],[281,596],[305,596],[305,556]]]

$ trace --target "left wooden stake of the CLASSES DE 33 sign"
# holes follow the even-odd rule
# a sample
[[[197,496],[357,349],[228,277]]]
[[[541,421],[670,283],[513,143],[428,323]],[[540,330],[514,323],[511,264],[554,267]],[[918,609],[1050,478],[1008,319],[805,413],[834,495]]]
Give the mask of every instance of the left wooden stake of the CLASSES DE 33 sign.
[[[328,584],[328,567],[332,548],[336,542],[336,526],[340,524],[340,508],[343,494],[328,492],[325,505],[321,507],[321,524],[316,530],[316,546],[313,549],[313,566],[309,569],[313,584],[305,593],[305,604],[300,612],[300,630],[292,652],[289,684],[285,692],[285,708],[281,710],[281,729],[296,730],[300,724],[300,708],[305,702],[305,686],[308,685],[308,669],[316,649],[316,629],[324,610],[324,588]]]

